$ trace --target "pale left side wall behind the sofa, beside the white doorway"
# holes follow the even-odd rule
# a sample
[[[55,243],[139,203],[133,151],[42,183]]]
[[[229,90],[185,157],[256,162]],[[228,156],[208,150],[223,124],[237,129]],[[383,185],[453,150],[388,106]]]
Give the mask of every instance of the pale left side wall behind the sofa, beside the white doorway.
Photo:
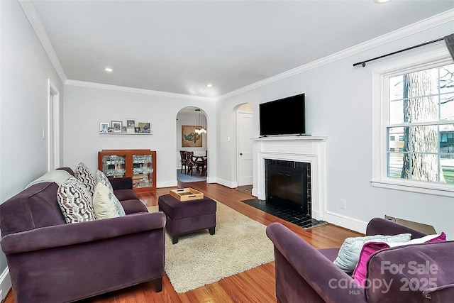
[[[59,90],[60,100],[63,84],[20,4],[0,1],[0,11],[0,202],[3,203],[47,171],[48,143],[47,138],[43,139],[43,129],[47,133],[48,78]],[[62,112],[60,106],[60,116]],[[1,253],[0,273],[5,269],[6,259]],[[3,290],[3,296],[7,291]]]

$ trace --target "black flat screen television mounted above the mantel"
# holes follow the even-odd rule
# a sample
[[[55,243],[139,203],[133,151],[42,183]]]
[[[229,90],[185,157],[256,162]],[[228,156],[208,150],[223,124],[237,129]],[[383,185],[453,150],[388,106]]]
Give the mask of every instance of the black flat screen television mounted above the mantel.
[[[260,107],[260,136],[304,135],[304,94],[262,103]]]

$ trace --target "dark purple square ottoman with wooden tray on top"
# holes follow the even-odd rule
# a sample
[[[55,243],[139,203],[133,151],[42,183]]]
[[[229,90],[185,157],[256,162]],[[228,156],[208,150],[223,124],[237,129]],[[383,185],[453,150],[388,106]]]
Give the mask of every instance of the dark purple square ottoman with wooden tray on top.
[[[178,242],[179,236],[192,231],[208,228],[214,235],[216,228],[216,202],[204,197],[191,201],[179,202],[170,194],[159,197],[159,211],[163,211],[167,223],[165,229],[172,236],[172,243]]]

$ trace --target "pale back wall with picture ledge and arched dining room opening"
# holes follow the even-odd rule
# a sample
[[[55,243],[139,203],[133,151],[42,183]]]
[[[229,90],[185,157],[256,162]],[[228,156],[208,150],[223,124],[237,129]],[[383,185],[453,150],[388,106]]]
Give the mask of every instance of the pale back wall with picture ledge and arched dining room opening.
[[[82,87],[65,85],[65,166],[76,167],[84,162],[90,170],[98,167],[98,152],[103,149],[156,150],[157,187],[177,185],[177,114],[186,106],[197,106],[208,116],[215,115],[215,102],[189,97],[167,97],[133,89],[109,89],[109,86]],[[103,135],[99,123],[135,118],[151,123],[153,135]],[[208,119],[214,121],[214,119]],[[209,125],[208,129],[216,126]],[[205,146],[216,153],[216,140],[209,137]],[[211,148],[212,146],[212,148]],[[216,163],[209,162],[209,174],[216,175]]]

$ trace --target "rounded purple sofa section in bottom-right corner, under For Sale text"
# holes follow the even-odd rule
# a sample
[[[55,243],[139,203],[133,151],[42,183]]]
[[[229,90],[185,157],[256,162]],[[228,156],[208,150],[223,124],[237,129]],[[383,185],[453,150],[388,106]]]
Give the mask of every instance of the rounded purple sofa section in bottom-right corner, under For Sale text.
[[[454,297],[454,241],[385,248],[367,261],[367,302],[405,298],[405,302],[450,302]],[[446,298],[450,300],[446,301]]]

